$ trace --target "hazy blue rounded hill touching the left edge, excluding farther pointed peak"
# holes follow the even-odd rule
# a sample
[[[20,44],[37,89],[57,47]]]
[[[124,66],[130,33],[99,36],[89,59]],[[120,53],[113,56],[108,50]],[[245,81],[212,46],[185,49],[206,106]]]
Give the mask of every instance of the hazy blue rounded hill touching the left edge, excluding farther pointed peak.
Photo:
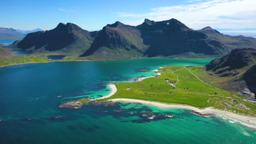
[[[23,34],[13,28],[3,28],[0,27],[0,39],[15,39],[21,40],[25,37],[26,34]]]

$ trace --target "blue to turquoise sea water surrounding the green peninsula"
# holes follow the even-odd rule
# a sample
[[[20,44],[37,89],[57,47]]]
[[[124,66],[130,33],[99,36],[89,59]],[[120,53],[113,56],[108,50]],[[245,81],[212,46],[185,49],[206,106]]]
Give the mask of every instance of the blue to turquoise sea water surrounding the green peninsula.
[[[255,129],[220,116],[195,116],[185,109],[131,103],[58,107],[64,100],[108,94],[107,82],[155,74],[144,69],[210,61],[143,58],[0,68],[0,143],[255,143]],[[174,117],[144,117],[151,113]]]

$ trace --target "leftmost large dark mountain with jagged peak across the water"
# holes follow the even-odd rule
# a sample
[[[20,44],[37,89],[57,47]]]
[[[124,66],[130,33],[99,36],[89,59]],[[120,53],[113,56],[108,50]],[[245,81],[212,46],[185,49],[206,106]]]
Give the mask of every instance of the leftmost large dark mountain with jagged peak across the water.
[[[50,31],[28,33],[16,46],[33,52],[65,53],[80,55],[94,40],[96,32],[88,32],[73,23],[59,23]]]

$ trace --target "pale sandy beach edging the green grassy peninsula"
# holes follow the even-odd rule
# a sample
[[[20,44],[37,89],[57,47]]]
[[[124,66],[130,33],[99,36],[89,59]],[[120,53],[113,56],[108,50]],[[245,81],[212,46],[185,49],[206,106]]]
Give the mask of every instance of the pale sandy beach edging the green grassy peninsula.
[[[152,77],[152,76],[150,76],[150,77]],[[148,77],[144,77],[144,79],[147,79],[147,78]],[[98,98],[98,99],[109,98],[117,92],[117,87],[114,84],[108,84],[108,85],[110,87],[110,91],[112,91],[112,92],[110,92],[105,97],[101,97],[101,98]],[[232,113],[232,112],[228,112],[228,111],[213,109],[212,107],[206,107],[205,109],[199,109],[197,107],[189,106],[189,105],[164,104],[164,103],[147,101],[147,100],[127,99],[127,98],[110,99],[108,101],[113,101],[113,102],[115,102],[115,101],[126,101],[126,102],[130,102],[130,103],[141,103],[141,104],[153,105],[153,106],[157,106],[157,107],[161,107],[161,108],[189,109],[189,110],[193,110],[193,111],[196,111],[196,112],[200,112],[202,114],[222,115],[222,116],[227,117],[229,119],[235,119],[237,121],[240,121],[241,124],[247,125],[248,127],[256,128],[256,117],[238,115],[236,113]]]

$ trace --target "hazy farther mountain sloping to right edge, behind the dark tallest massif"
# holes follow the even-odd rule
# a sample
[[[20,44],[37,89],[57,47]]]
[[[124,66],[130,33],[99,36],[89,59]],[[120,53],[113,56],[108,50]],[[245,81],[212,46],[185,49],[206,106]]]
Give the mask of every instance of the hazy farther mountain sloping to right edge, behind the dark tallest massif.
[[[200,29],[199,32],[205,33],[213,40],[217,40],[230,49],[254,48],[256,49],[256,39],[252,37],[244,37],[243,35],[230,36],[222,34],[211,27]]]

